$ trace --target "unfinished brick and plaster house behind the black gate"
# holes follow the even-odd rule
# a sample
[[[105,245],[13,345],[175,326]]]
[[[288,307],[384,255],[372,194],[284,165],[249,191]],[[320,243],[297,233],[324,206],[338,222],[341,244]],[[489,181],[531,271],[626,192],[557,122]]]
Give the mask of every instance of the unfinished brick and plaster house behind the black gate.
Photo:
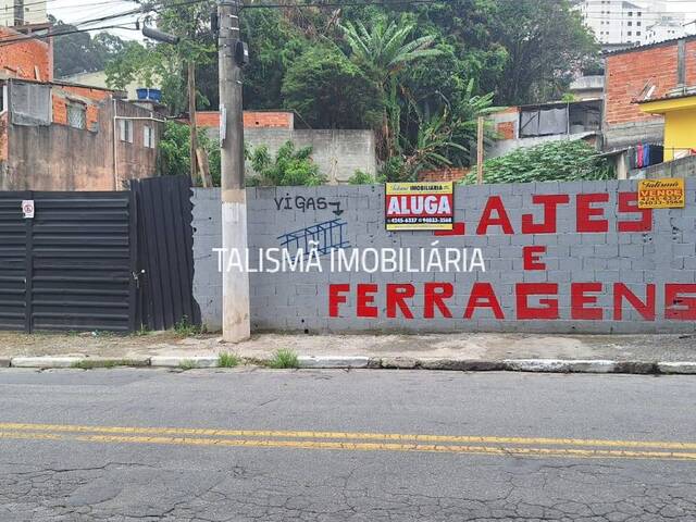
[[[23,35],[0,28],[0,37]],[[113,190],[156,175],[157,110],[55,82],[52,71],[50,41],[0,47],[0,189]]]

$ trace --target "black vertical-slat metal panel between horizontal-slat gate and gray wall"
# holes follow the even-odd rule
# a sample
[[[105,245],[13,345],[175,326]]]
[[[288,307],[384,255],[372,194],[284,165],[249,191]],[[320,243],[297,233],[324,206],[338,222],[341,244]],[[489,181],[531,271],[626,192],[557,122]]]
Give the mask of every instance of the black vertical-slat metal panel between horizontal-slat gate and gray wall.
[[[134,179],[138,212],[137,323],[169,330],[200,325],[194,298],[191,185],[187,176]]]

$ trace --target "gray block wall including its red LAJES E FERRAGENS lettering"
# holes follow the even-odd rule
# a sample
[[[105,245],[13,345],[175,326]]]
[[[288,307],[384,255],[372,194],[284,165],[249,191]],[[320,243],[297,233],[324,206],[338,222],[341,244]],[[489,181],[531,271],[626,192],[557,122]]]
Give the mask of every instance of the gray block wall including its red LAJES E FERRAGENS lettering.
[[[326,228],[333,222],[333,231],[314,236],[320,247],[343,239],[346,254],[369,248],[411,248],[415,252],[468,248],[471,254],[480,248],[486,268],[485,272],[332,272],[326,254],[321,272],[251,273],[252,328],[309,333],[695,332],[696,179],[687,179],[685,209],[638,211],[636,190],[634,181],[457,187],[456,222],[463,223],[458,233],[464,234],[436,236],[433,232],[386,232],[381,186],[249,189],[252,266],[258,249],[278,248],[286,234],[303,238],[302,231],[312,233],[318,224]],[[552,212],[552,206],[542,203],[549,196],[568,203],[557,204]],[[195,203],[195,295],[204,321],[216,325],[221,276],[216,256],[209,250],[220,243],[220,203],[216,192],[204,190],[196,191]],[[343,210],[338,216],[334,213],[337,207]],[[549,228],[534,233],[530,223]],[[290,252],[295,248],[290,241]],[[396,287],[388,285],[395,284],[411,285],[397,289],[413,289],[414,296],[405,298],[412,319],[394,300],[395,313],[389,312],[387,294],[393,295]],[[452,296],[444,301],[451,318],[434,304],[434,284],[440,285],[439,290],[451,285]],[[525,291],[531,294],[525,297]],[[366,316],[373,312],[376,316]]]

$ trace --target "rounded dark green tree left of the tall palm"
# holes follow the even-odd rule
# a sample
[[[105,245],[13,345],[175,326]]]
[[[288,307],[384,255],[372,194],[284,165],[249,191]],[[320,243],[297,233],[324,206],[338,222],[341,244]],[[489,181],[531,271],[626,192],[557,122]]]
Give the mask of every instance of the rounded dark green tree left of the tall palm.
[[[318,128],[370,128],[380,121],[381,92],[335,47],[297,59],[283,82],[284,105]]]

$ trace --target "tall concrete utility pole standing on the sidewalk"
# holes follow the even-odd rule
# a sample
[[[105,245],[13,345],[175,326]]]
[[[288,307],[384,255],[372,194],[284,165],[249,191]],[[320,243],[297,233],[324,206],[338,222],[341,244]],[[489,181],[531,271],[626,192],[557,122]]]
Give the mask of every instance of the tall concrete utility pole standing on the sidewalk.
[[[240,0],[220,0],[217,37],[220,60],[220,146],[222,177],[222,247],[245,259],[247,251],[247,194],[244,184],[244,120],[241,69],[235,61],[239,38]],[[223,339],[239,343],[251,335],[249,274],[227,271],[222,275]]]

